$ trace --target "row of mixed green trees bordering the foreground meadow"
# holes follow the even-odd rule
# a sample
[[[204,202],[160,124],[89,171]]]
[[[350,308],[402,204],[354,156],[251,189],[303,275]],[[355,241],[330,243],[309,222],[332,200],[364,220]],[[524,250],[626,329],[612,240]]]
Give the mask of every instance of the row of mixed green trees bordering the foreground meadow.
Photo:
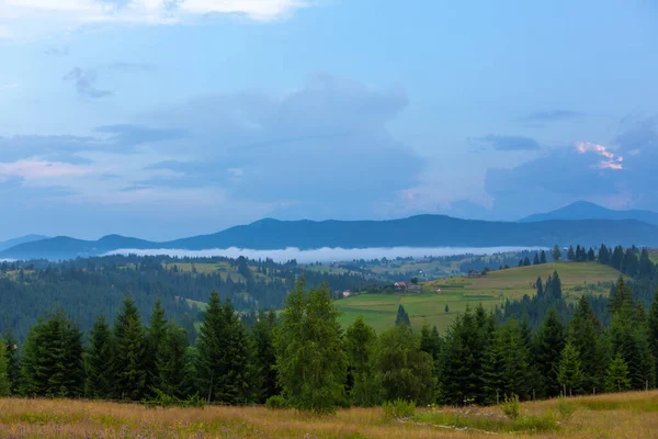
[[[559,294],[555,273],[544,297]],[[495,404],[654,389],[658,293],[648,313],[624,279],[612,291],[606,327],[587,296],[563,323],[551,307],[536,329],[500,320],[481,305],[440,335],[412,330],[408,315],[376,334],[362,317],[342,330],[329,288],[296,283],[281,315],[241,322],[229,300],[211,294],[198,337],[156,303],[148,325],[125,297],[110,325],[99,316],[83,334],[64,313],[34,325],[23,346],[0,344],[0,393],[143,401],[194,395],[223,404],[268,403],[330,413],[402,398],[417,404]]]

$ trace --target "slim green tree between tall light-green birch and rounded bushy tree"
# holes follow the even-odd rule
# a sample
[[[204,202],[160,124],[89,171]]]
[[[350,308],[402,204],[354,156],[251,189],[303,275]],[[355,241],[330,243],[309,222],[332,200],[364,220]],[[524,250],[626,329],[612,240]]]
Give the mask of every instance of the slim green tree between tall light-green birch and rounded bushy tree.
[[[379,403],[373,361],[376,342],[375,330],[365,324],[362,316],[356,317],[345,333],[348,364],[353,376],[350,398],[356,406],[370,407]]]

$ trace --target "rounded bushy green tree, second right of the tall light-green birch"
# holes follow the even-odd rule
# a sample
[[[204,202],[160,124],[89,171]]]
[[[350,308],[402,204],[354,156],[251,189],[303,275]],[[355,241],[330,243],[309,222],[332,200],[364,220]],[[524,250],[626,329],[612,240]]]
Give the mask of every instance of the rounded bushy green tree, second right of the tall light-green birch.
[[[379,336],[376,364],[384,401],[433,401],[432,357],[420,349],[408,325],[395,326]]]

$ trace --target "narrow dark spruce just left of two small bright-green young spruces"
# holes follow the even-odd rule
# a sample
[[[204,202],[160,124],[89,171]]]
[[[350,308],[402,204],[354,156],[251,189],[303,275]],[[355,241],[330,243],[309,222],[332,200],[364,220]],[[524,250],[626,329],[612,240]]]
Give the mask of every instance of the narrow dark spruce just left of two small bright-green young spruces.
[[[542,376],[542,387],[538,392],[545,396],[559,395],[557,379],[559,357],[565,347],[565,329],[557,317],[555,308],[548,309],[534,341],[533,356]]]

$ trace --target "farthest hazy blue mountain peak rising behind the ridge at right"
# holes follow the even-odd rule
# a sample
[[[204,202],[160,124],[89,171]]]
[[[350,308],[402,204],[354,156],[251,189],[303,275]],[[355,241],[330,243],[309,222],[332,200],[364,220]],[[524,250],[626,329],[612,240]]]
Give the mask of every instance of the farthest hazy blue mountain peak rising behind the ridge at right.
[[[520,222],[535,223],[549,219],[637,219],[658,225],[658,213],[637,210],[613,211],[587,201],[577,201],[553,212],[530,215]]]

